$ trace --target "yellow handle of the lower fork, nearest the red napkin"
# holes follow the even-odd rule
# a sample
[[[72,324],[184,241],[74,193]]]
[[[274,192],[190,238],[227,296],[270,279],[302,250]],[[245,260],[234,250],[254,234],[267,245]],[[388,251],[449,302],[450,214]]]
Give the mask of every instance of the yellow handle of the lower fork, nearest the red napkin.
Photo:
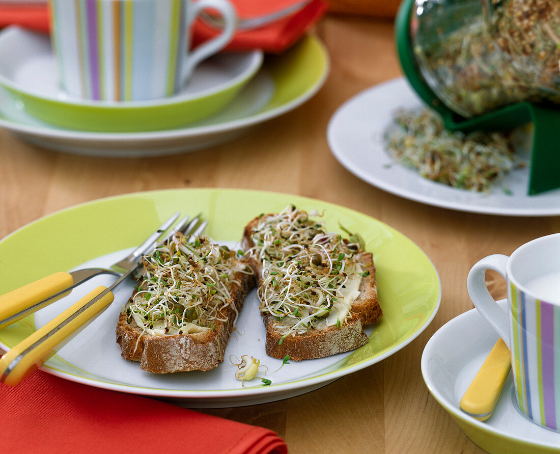
[[[0,379],[6,384],[16,385],[31,372],[38,369],[55,352],[55,348],[77,333],[97,314],[113,302],[110,291],[91,303],[106,288],[99,286],[80,301],[66,309],[31,336],[22,340],[0,359]]]

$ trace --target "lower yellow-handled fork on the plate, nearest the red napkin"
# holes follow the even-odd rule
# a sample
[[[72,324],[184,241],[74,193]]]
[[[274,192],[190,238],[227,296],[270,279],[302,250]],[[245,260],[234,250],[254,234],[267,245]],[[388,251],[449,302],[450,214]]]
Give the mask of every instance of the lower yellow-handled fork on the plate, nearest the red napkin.
[[[197,217],[190,221],[190,223],[184,221],[175,231],[181,231],[184,235],[197,237],[206,228],[206,225],[206,221],[200,222]],[[169,225],[167,228],[169,228]],[[158,237],[161,234],[162,232],[160,231]],[[172,233],[167,235],[165,240],[169,239],[171,235]],[[150,254],[159,244],[161,243],[152,241],[148,247],[143,249],[143,254]],[[34,372],[34,370],[41,367],[54,354],[55,348],[60,348],[63,342],[66,344],[113,302],[114,295],[112,290],[142,264],[141,259],[142,254],[139,255],[136,261],[132,261],[129,268],[108,288],[102,285],[98,286],[4,354],[0,359],[0,381],[12,386],[16,385]]]

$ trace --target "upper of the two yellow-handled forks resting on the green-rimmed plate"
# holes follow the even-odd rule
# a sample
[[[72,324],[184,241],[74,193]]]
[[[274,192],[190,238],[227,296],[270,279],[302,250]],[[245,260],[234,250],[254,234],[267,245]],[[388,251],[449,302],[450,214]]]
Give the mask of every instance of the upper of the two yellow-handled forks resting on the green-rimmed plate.
[[[179,215],[179,212],[172,215],[127,257],[113,263],[109,268],[82,268],[70,272],[60,271],[1,295],[0,330],[68,295],[72,289],[92,277],[100,274],[116,276],[124,274],[142,257],[147,249],[153,247],[153,244],[160,239],[162,234],[175,223]],[[198,219],[198,217],[195,219]],[[179,225],[188,228],[189,225],[186,224],[188,220],[189,216],[185,216],[179,221]]]

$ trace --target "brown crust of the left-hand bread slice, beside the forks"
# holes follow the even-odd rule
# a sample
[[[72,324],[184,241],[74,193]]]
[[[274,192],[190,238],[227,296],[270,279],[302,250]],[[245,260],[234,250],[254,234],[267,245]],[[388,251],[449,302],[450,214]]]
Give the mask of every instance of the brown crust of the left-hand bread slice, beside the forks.
[[[237,272],[236,279],[241,286],[233,284],[228,290],[232,304],[239,312],[246,295],[255,285],[255,277]],[[147,372],[210,370],[223,361],[236,312],[227,307],[224,315],[227,322],[218,321],[215,328],[203,332],[150,336],[143,335],[136,322],[128,322],[127,314],[121,313],[116,326],[116,342],[120,345],[123,358],[140,362],[140,368]]]

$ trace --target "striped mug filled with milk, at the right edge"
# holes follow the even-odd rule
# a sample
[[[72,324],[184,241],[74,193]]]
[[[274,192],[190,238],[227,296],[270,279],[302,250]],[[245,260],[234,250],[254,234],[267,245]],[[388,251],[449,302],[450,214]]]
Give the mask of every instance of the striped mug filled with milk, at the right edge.
[[[507,282],[507,314],[488,292],[484,273]],[[560,430],[560,234],[480,260],[467,277],[469,296],[511,352],[519,409],[534,423]]]

